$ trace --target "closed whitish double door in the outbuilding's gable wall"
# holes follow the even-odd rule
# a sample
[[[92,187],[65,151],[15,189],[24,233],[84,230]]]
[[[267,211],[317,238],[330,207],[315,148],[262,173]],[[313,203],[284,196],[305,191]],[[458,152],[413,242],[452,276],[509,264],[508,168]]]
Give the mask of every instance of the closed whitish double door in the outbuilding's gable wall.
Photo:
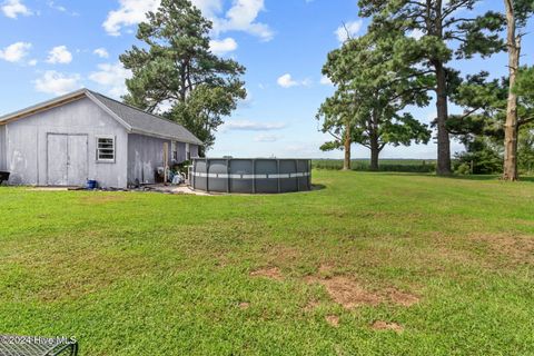
[[[82,186],[87,180],[87,135],[48,135],[48,185]]]

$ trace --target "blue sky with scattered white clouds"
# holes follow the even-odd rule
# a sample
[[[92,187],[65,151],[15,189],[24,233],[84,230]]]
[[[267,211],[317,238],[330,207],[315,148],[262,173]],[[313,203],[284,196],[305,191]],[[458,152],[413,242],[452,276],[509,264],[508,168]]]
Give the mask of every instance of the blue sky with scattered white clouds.
[[[323,152],[328,135],[315,119],[335,88],[320,73],[329,51],[346,33],[362,36],[357,0],[192,0],[214,22],[211,49],[247,68],[248,98],[217,132],[208,156],[342,158]],[[137,23],[158,0],[0,0],[0,115],[89,88],[119,99],[130,73],[118,58],[132,44]],[[503,1],[485,0],[475,12],[503,11]],[[534,27],[523,40],[523,63],[534,58]],[[506,75],[506,55],[453,61],[463,75],[482,69]],[[451,107],[461,112],[461,108]],[[411,108],[422,122],[435,117],[435,105]],[[461,151],[457,142],[453,152]],[[367,158],[354,145],[353,157]],[[436,157],[436,145],[386,147],[383,158]]]

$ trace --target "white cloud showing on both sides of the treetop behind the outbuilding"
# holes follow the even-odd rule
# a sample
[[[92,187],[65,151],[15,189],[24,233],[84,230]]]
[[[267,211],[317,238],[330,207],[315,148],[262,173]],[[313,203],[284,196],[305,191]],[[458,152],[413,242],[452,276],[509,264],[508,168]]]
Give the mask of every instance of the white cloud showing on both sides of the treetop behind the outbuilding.
[[[146,13],[156,11],[159,0],[119,0],[120,7],[108,13],[102,23],[106,32],[120,36],[125,27],[146,20]],[[234,0],[228,11],[224,12],[222,0],[192,0],[202,14],[214,22],[214,34],[217,38],[227,31],[244,31],[268,41],[273,39],[273,30],[256,18],[264,10],[264,0]]]

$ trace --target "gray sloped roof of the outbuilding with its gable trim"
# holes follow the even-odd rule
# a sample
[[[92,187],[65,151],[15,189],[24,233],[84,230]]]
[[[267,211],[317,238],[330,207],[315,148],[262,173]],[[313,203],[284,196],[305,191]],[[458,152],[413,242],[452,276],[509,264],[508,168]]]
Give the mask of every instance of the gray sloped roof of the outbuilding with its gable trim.
[[[126,129],[128,129],[130,132],[148,135],[148,136],[157,136],[157,137],[167,138],[167,139],[171,139],[180,142],[202,145],[202,141],[200,141],[195,135],[192,135],[189,130],[187,130],[181,125],[178,125],[174,121],[161,118],[157,115],[142,111],[140,109],[137,109],[129,105],[113,100],[101,93],[98,93],[88,89],[77,90],[66,96],[6,115],[3,117],[0,117],[0,123],[2,121],[8,122],[13,119],[23,118],[34,112],[47,110],[48,108],[63,105],[72,100],[78,100],[83,96],[88,97],[89,99],[93,100],[97,105],[101,106],[102,109],[107,110],[115,119],[117,119],[120,123],[122,123],[126,127]]]

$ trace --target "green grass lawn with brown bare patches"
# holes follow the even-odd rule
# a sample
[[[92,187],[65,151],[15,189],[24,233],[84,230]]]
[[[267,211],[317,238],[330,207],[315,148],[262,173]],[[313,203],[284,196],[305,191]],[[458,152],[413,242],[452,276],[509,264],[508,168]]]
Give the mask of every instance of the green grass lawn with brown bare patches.
[[[0,334],[81,355],[533,355],[534,182],[314,171],[273,196],[0,188]]]

